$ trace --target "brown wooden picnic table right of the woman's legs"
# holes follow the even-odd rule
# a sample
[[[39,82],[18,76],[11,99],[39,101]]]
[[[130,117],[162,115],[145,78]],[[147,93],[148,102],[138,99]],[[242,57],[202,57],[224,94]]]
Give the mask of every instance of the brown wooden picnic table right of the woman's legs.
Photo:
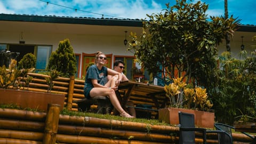
[[[153,105],[156,109],[164,108],[169,101],[165,96],[163,86],[139,83],[135,81],[123,81],[118,86],[119,99],[123,105],[128,100],[136,104]],[[121,96],[122,95],[122,96]]]

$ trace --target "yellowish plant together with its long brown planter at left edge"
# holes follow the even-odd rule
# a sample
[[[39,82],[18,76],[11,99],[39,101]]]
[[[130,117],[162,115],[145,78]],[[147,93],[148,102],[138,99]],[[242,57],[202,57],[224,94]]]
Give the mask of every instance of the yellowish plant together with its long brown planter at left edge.
[[[9,69],[0,67],[0,104],[15,104],[21,108],[33,108],[47,110],[48,103],[59,104],[61,109],[64,105],[65,95],[33,92],[24,89],[29,85],[31,78],[26,73],[31,69],[17,69],[17,61],[12,60]],[[23,87],[23,89],[22,89]]]

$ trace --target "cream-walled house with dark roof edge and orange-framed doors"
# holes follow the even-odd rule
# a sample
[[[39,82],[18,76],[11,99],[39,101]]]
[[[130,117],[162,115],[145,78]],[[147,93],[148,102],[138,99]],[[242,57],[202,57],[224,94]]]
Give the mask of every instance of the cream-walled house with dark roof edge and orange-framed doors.
[[[126,33],[127,31],[127,33]],[[102,51],[107,55],[107,67],[112,68],[113,61],[125,62],[126,75],[132,78],[135,67],[134,55],[127,51],[124,39],[128,41],[130,32],[142,33],[142,21],[139,19],[108,19],[57,17],[55,15],[0,14],[0,49],[20,52],[17,60],[26,53],[37,57],[36,69],[45,69],[51,52],[58,48],[63,39],[68,38],[77,59],[77,77],[83,77],[87,65],[93,62],[94,53]],[[231,41],[231,52],[241,50],[242,36],[245,50],[252,51],[252,37],[256,35],[256,26],[240,25]],[[219,54],[226,50],[225,43],[219,47]],[[145,75],[149,79],[148,74]]]

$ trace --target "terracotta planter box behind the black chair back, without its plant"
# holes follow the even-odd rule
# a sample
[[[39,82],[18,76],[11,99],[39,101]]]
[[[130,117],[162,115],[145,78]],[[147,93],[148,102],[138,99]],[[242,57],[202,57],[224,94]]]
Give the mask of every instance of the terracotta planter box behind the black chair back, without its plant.
[[[159,109],[158,119],[159,121],[164,121],[168,124],[178,125],[179,111],[182,111],[184,113],[194,114],[195,125],[198,127],[205,127],[205,128],[214,127],[214,113],[210,113],[206,111],[183,109],[183,108],[164,108],[164,109]]]

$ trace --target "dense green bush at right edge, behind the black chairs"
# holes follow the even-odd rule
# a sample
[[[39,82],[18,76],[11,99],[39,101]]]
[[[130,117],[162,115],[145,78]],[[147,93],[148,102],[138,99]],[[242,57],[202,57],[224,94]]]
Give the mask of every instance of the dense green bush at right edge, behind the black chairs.
[[[209,92],[218,122],[232,125],[241,115],[256,116],[255,60],[255,55],[238,60],[230,52],[222,53],[215,71],[217,85]]]

